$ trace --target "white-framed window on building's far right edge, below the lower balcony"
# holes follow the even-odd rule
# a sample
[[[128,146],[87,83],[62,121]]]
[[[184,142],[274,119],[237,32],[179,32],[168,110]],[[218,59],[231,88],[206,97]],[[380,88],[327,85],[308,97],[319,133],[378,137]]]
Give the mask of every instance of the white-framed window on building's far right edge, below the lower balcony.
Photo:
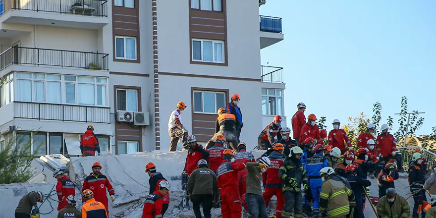
[[[262,114],[283,115],[283,90],[262,89]]]

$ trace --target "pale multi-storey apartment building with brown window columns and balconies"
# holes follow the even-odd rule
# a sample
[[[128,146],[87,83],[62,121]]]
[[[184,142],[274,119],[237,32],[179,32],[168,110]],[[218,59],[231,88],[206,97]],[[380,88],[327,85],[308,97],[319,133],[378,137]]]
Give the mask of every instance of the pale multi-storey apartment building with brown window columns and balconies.
[[[0,0],[1,145],[32,137],[38,155],[77,155],[92,124],[102,153],[167,150],[178,101],[207,142],[237,93],[241,139],[254,147],[284,117],[283,69],[260,65],[260,50],[283,40],[281,19],[259,16],[264,3]]]

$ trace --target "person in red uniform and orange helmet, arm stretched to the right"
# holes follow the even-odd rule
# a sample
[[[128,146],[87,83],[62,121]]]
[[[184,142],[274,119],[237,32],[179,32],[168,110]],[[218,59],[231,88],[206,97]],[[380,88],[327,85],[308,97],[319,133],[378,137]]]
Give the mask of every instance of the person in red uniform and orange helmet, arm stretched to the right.
[[[241,202],[238,190],[238,172],[245,169],[245,163],[234,163],[234,153],[226,149],[223,163],[218,167],[218,188],[221,193],[222,218],[240,218]]]

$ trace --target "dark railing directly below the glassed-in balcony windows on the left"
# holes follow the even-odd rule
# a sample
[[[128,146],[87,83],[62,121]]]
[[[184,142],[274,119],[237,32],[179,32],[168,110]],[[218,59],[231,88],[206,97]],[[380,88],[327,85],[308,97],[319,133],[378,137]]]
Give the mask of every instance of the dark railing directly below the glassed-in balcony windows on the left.
[[[14,102],[14,118],[110,123],[110,108]]]

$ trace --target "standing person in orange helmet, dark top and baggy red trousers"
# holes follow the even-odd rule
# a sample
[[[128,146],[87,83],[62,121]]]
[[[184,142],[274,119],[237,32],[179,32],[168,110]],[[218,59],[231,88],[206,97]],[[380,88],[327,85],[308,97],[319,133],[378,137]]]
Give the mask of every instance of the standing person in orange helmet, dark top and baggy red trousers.
[[[282,190],[282,180],[278,176],[278,170],[283,165],[285,156],[283,155],[284,148],[280,143],[276,143],[272,148],[272,152],[268,155],[268,159],[271,162],[271,166],[267,168],[267,171],[262,173],[262,180],[265,187],[264,200],[265,205],[268,207],[272,196],[277,198],[277,204],[275,207],[275,217],[281,218],[281,213],[284,207],[284,196]]]

